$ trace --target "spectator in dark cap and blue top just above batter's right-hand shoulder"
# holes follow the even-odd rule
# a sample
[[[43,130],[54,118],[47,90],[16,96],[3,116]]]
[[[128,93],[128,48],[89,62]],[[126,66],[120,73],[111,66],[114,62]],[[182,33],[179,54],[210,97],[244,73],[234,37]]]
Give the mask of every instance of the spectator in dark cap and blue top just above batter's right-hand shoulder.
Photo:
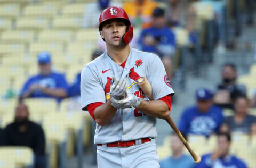
[[[166,73],[171,81],[175,35],[167,26],[164,9],[156,8],[153,11],[153,26],[142,30],[138,44],[142,51],[155,53],[161,57]]]

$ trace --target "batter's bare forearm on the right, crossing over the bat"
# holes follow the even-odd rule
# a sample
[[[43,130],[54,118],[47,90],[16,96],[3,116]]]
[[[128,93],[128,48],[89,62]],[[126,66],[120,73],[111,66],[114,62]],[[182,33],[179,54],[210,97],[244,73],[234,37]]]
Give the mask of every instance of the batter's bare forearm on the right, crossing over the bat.
[[[167,119],[167,116],[169,116],[170,114],[170,110],[167,104],[162,100],[141,100],[141,103],[139,107],[137,107],[137,110],[159,119]]]

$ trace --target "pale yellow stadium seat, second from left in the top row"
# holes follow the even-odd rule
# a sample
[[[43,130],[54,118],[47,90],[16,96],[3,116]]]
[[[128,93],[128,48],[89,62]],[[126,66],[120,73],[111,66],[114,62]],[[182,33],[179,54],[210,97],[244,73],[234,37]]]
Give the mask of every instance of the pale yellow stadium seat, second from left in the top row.
[[[24,15],[26,17],[42,17],[52,18],[58,13],[58,9],[53,5],[29,5],[24,9]]]

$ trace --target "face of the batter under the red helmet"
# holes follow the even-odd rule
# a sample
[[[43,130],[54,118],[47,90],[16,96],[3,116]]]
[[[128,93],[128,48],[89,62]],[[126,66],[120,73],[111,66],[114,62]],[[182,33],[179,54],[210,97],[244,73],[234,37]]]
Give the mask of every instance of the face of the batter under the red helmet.
[[[106,44],[111,46],[123,45],[122,36],[126,32],[126,24],[120,20],[107,22],[100,31],[102,38],[105,38]]]

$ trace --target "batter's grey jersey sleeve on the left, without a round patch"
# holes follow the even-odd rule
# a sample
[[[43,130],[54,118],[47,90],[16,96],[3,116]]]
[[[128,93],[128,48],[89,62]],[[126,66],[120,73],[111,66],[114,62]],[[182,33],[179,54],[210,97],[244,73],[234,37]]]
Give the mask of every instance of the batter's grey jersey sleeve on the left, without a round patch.
[[[81,73],[81,103],[82,110],[90,103],[106,102],[104,89],[97,78],[97,73],[85,66]]]

